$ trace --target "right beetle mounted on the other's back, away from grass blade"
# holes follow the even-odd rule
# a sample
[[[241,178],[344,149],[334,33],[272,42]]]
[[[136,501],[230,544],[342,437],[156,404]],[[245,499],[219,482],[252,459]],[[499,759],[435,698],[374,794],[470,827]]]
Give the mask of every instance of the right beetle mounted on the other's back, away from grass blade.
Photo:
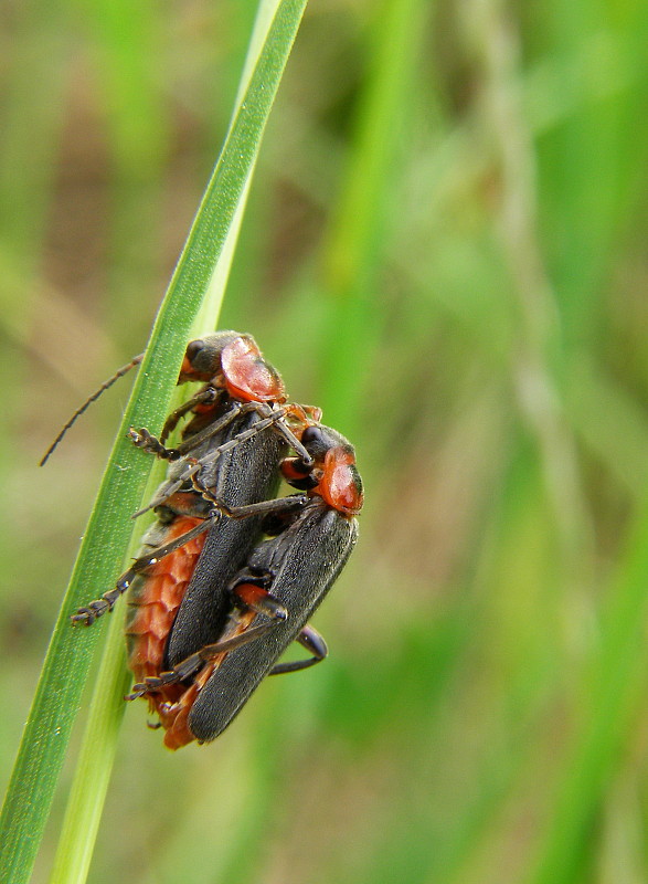
[[[277,534],[255,545],[231,579],[219,635],[203,643],[203,608],[191,610],[183,603],[167,644],[166,660],[173,669],[144,678],[129,695],[146,696],[156,705],[169,748],[214,739],[266,675],[305,669],[327,654],[308,620],[355,545],[362,482],[353,448],[334,430],[308,427],[301,442],[312,466],[299,457],[281,464],[286,481],[302,490],[284,499],[300,499],[301,505],[290,512],[280,506],[281,499],[274,502]],[[277,663],[293,641],[312,656]]]

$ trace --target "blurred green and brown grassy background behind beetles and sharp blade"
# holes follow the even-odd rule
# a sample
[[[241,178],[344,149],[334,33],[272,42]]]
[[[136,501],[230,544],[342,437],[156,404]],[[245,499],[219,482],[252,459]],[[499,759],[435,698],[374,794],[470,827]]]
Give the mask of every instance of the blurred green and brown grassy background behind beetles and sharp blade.
[[[128,383],[36,462],[146,341],[255,9],[0,11],[2,783]],[[91,881],[648,881],[646,45],[638,0],[311,1],[220,325],[355,443],[361,541],[217,743],[127,711]]]

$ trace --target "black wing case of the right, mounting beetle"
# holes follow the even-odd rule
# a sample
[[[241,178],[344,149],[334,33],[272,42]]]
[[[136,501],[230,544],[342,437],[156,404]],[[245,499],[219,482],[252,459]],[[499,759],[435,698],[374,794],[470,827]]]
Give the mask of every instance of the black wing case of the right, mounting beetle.
[[[212,740],[232,722],[253,691],[326,597],[358,539],[358,523],[314,498],[281,535],[259,544],[248,565],[274,575],[269,591],[288,619],[265,636],[232,651],[198,696],[189,716],[191,732]],[[264,622],[257,617],[252,625]],[[266,621],[267,622],[267,621]]]

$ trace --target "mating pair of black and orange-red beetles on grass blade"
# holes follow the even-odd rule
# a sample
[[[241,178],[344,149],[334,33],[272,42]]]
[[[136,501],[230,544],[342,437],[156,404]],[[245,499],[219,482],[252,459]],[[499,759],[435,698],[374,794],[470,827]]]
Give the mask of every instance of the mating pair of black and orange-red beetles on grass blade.
[[[318,409],[286,403],[252,337],[192,341],[187,380],[204,386],[169,415],[160,440],[131,431],[135,444],[170,461],[147,507],[158,520],[116,587],[73,615],[91,624],[130,589],[138,683],[128,698],[149,699],[169,748],[214,739],[266,675],[326,656],[308,620],[355,544],[362,507],[353,448],[319,423]],[[166,448],[187,415],[182,442]],[[280,478],[298,493],[275,498]],[[311,656],[277,663],[295,640]]]

